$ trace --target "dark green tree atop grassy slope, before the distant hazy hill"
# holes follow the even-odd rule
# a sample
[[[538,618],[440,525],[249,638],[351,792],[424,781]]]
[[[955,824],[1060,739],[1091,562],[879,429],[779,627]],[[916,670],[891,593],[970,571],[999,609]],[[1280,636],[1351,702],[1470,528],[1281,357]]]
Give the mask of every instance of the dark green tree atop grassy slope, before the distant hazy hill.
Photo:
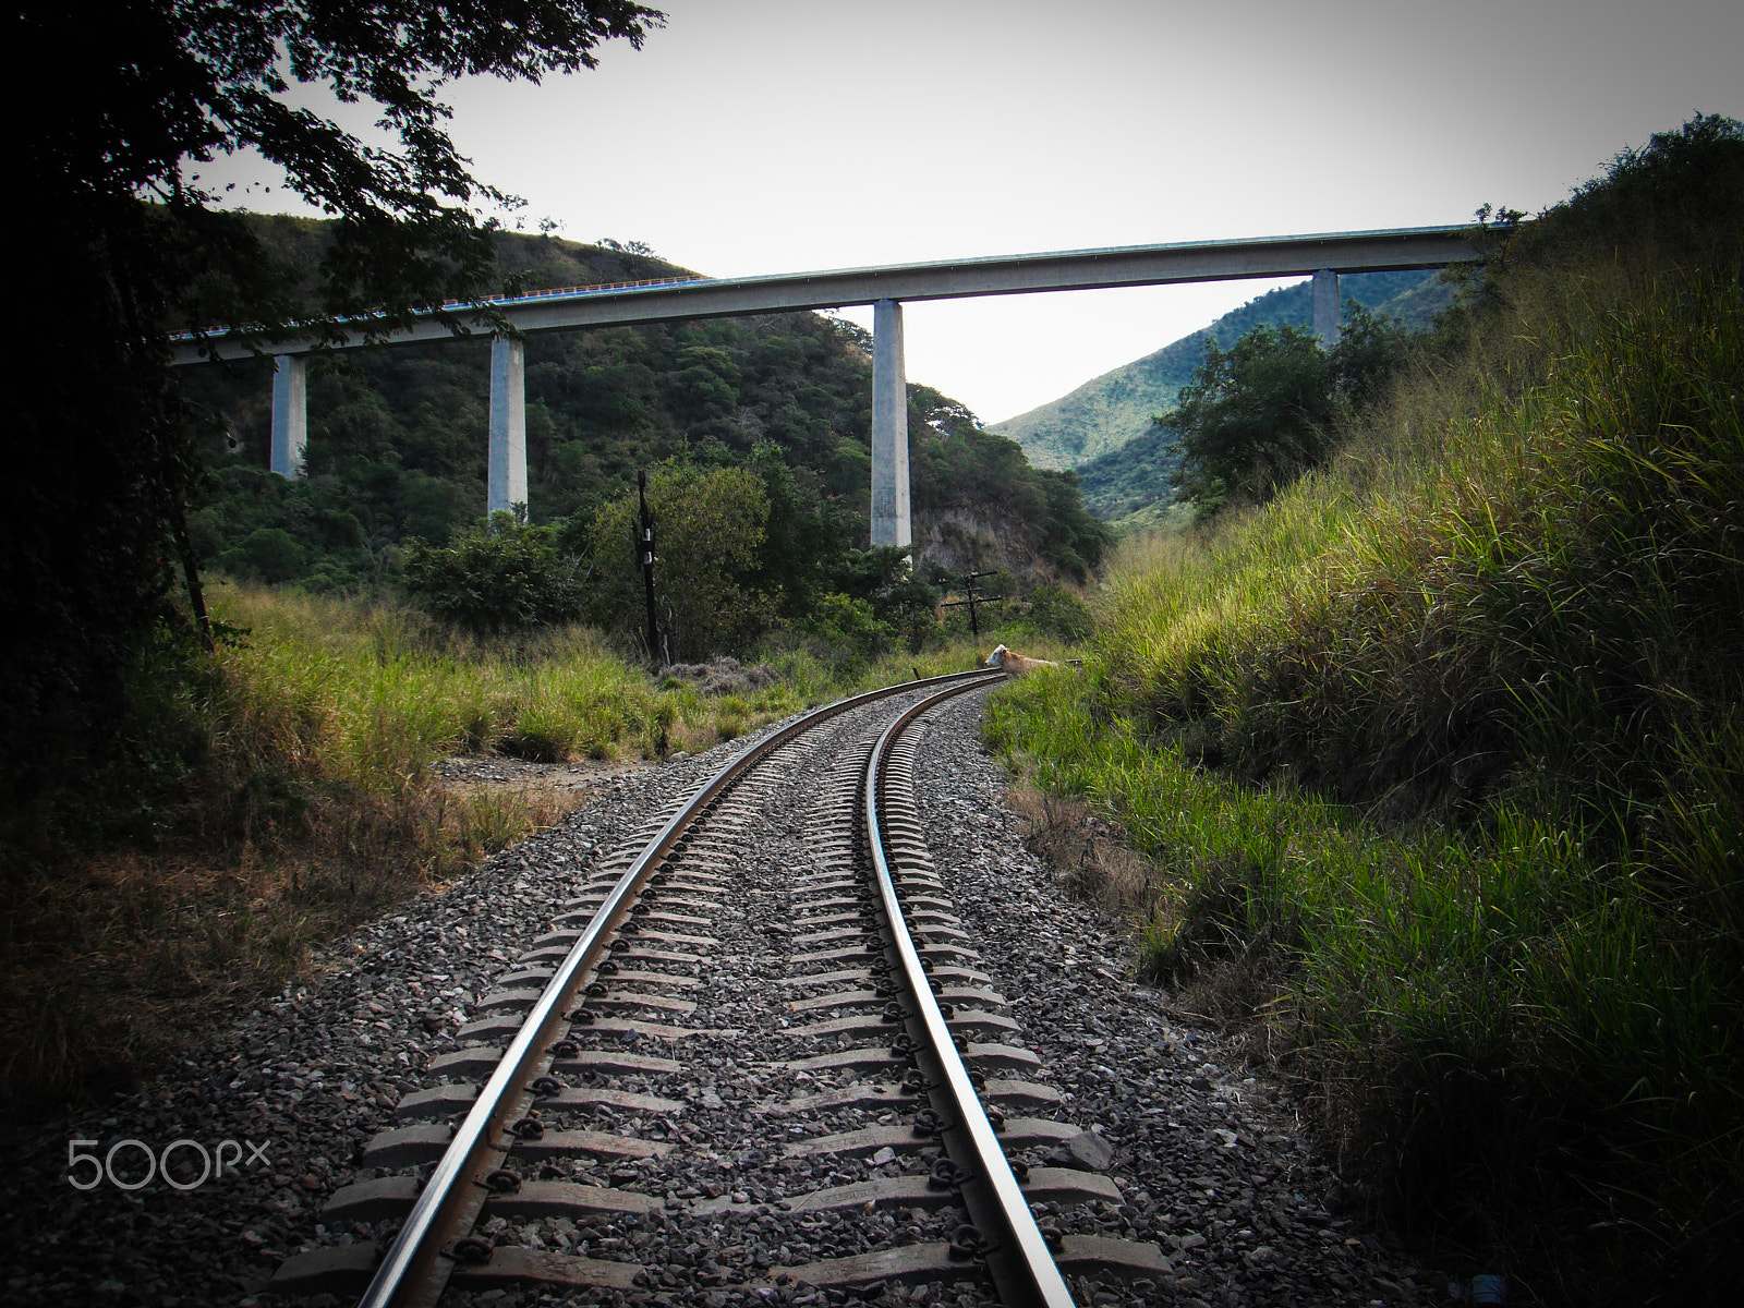
[[[1296,326],[1256,326],[1205,359],[1177,406],[1151,419],[1175,433],[1175,492],[1212,514],[1230,501],[1264,502],[1332,450],[1334,420],[1371,403],[1399,364],[1406,333],[1362,305],[1325,351]]]

